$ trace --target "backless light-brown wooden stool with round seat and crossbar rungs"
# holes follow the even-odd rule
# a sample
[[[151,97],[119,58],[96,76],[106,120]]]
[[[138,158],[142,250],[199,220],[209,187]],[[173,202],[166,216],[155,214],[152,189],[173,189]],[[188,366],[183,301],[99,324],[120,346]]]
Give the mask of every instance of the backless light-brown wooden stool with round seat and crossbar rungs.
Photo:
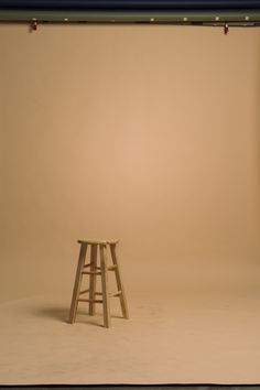
[[[80,251],[78,258],[77,272],[75,278],[72,305],[69,312],[69,323],[73,324],[76,318],[77,305],[78,302],[88,302],[89,303],[89,314],[95,314],[96,303],[102,303],[104,311],[104,326],[111,326],[111,316],[110,316],[110,297],[118,296],[121,303],[122,315],[124,318],[129,318],[128,306],[124,295],[124,290],[121,281],[119,264],[117,260],[116,246],[118,240],[112,241],[98,241],[98,240],[78,240],[80,243]],[[90,247],[90,262],[85,263],[87,257],[87,248]],[[112,266],[107,266],[108,257],[108,247],[110,248]],[[100,267],[97,267],[98,249],[100,253]],[[89,268],[89,271],[86,269]],[[108,271],[115,271],[116,282],[118,291],[113,294],[109,291],[108,284]],[[83,281],[83,275],[89,275],[89,289],[80,291],[80,285]],[[101,277],[101,292],[96,291],[96,277]],[[89,293],[88,299],[83,299],[82,295]],[[101,295],[102,300],[96,300],[96,295]]]

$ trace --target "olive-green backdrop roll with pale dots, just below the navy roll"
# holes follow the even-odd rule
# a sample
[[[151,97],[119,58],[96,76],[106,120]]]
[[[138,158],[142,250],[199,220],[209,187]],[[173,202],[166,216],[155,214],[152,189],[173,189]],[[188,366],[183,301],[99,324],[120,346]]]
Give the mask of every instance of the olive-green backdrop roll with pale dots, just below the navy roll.
[[[0,22],[71,22],[71,23],[241,23],[260,22],[259,11],[69,11],[69,10],[1,10]]]

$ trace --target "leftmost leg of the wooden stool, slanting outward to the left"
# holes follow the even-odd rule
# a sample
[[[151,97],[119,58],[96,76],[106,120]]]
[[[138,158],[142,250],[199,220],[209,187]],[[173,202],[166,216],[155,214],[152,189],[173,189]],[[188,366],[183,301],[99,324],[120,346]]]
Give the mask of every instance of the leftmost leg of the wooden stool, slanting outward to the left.
[[[77,271],[76,271],[76,278],[75,278],[75,283],[74,283],[74,290],[73,290],[69,317],[68,317],[68,322],[71,324],[75,323],[75,318],[76,318],[77,304],[78,304],[77,300],[79,296],[79,290],[80,290],[82,279],[83,279],[82,272],[84,270],[86,254],[87,254],[87,245],[82,243],[80,251],[79,251],[79,258],[78,258],[78,264],[77,264]]]

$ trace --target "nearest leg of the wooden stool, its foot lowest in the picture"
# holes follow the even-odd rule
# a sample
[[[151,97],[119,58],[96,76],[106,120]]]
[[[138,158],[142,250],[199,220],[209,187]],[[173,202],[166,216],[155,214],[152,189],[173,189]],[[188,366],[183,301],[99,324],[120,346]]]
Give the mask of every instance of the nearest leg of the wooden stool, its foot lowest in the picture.
[[[101,267],[101,283],[102,283],[102,310],[104,310],[104,326],[111,326],[110,302],[108,290],[108,272],[107,272],[107,246],[100,245],[100,267]]]

